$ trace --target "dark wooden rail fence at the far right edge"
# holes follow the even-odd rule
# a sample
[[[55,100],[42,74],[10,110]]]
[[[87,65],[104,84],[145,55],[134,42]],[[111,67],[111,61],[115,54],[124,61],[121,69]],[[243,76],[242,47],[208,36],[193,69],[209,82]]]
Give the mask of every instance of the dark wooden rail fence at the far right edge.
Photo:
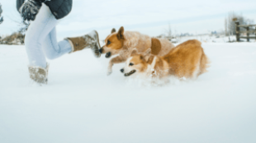
[[[256,25],[239,25],[239,21],[235,21],[235,27],[236,27],[236,41],[239,42],[240,39],[247,39],[249,42],[249,39],[256,39]],[[249,27],[255,27],[254,30],[250,29]],[[240,30],[240,28],[244,28],[246,30]],[[246,33],[246,37],[240,36],[241,33]],[[249,34],[255,34],[255,36],[249,36]]]

